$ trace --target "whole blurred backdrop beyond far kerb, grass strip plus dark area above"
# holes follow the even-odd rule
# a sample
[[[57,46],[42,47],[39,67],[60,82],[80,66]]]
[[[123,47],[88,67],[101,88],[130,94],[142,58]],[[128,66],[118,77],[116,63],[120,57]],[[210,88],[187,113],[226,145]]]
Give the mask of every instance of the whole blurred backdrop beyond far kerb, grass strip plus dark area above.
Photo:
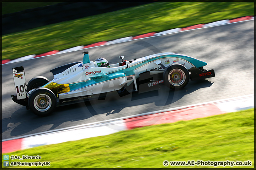
[[[252,2],[2,1],[2,60],[249,15]]]

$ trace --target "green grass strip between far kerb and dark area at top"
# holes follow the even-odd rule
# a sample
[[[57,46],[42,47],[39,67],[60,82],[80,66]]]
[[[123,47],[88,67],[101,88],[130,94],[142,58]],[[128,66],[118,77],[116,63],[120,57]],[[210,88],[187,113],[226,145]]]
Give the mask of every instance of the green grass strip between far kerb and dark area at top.
[[[249,15],[253,2],[155,2],[3,35],[2,60]]]

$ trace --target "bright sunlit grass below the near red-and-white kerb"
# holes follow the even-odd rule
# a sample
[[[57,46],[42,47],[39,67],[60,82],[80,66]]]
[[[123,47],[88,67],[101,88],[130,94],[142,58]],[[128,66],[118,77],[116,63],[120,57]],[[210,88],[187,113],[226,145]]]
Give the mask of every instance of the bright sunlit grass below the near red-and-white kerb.
[[[40,162],[50,162],[51,166],[45,166],[47,168],[114,168],[117,166],[165,168],[164,160],[250,160],[252,166],[234,166],[233,168],[253,168],[254,109],[171,124],[146,126],[107,136],[39,146],[7,154],[9,157],[39,155],[42,157]],[[22,160],[21,162],[37,161]],[[167,168],[182,167],[214,168],[213,166],[167,166]],[[231,167],[225,166],[225,168]]]

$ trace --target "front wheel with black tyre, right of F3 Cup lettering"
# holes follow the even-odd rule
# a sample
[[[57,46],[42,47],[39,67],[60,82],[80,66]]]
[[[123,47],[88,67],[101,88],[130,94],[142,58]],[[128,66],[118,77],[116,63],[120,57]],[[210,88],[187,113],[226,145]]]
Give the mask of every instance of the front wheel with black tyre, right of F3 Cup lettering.
[[[173,90],[183,89],[188,84],[190,78],[187,68],[181,64],[167,67],[163,74],[164,83]]]

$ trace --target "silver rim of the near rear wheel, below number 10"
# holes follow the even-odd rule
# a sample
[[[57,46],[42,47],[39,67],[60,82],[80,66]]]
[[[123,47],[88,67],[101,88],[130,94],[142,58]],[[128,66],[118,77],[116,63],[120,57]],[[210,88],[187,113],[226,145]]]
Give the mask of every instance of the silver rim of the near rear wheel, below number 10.
[[[52,101],[48,95],[40,94],[34,98],[34,107],[39,112],[48,111],[49,108],[52,106]]]

